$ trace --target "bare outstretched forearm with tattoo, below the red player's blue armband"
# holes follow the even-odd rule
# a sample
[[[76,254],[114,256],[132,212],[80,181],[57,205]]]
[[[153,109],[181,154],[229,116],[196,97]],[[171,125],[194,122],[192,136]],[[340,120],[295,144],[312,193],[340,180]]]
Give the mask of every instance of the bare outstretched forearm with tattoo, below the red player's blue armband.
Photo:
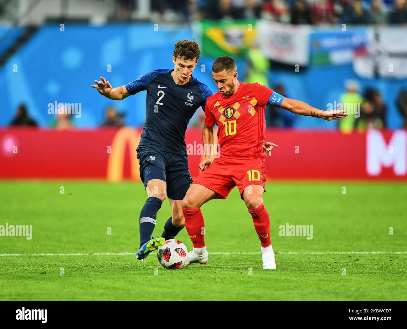
[[[280,108],[286,109],[295,114],[309,115],[315,118],[322,118],[324,120],[340,120],[348,116],[347,110],[330,110],[322,111],[315,107],[309,106],[300,100],[284,98],[281,102]]]

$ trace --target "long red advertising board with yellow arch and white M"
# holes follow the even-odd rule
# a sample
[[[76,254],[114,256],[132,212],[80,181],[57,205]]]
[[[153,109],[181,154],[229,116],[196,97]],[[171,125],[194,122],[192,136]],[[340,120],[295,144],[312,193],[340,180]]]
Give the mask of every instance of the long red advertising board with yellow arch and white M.
[[[0,179],[140,180],[141,128],[0,129]],[[267,129],[268,179],[407,180],[407,131]],[[191,175],[199,174],[201,129],[186,133]]]

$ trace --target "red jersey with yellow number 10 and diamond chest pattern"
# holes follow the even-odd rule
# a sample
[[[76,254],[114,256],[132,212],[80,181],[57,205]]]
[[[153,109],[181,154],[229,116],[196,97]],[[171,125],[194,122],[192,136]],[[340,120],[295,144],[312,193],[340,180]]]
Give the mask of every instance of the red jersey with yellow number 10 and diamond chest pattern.
[[[207,98],[205,124],[218,125],[221,157],[264,156],[264,109],[272,93],[272,89],[258,83],[240,82],[239,89],[230,97],[217,92]]]

